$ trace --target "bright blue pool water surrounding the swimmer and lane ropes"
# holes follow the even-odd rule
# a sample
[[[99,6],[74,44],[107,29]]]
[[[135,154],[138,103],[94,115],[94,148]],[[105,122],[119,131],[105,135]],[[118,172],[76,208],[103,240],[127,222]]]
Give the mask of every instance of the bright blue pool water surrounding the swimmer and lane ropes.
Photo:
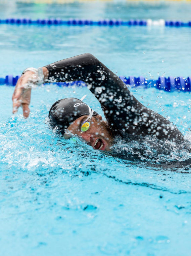
[[[172,3],[39,6],[13,2],[10,7],[1,6],[4,17],[26,17],[27,13],[33,19],[178,17],[186,21],[191,8]],[[118,75],[190,75],[189,28],[1,25],[0,38],[0,77],[85,52]],[[87,94],[86,103],[102,114],[87,88],[47,85],[35,89],[27,120],[21,110],[11,114],[13,90],[0,86],[0,255],[190,255],[191,169],[159,164],[166,159],[179,163],[191,159],[188,152],[175,148],[169,155],[146,159],[145,154],[153,152],[148,142],[148,152],[139,161],[125,161],[94,151],[80,139],[68,142],[49,129],[48,111],[60,98]],[[190,93],[131,91],[190,138]],[[120,146],[115,149],[121,150]],[[124,145],[123,152],[130,150],[130,145]]]

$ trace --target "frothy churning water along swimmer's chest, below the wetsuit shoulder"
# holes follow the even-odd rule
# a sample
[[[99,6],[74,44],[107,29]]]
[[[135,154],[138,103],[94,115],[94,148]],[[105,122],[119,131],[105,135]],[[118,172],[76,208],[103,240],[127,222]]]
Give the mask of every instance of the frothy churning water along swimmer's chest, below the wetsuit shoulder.
[[[191,163],[191,143],[188,140],[177,140],[175,143],[169,140],[162,141],[154,136],[131,136],[126,140],[118,137],[112,149],[113,155],[127,160],[139,159],[156,164],[185,162],[185,166],[189,160]]]

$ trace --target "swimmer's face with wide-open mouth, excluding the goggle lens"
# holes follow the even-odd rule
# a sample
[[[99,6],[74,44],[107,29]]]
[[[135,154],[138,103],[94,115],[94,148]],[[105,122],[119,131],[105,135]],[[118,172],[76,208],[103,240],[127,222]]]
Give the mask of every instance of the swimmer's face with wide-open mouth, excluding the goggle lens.
[[[86,132],[81,132],[82,123],[88,118],[88,116],[82,116],[71,123],[67,130],[78,135],[86,141],[89,146],[94,149],[110,151],[110,146],[112,144],[112,136],[107,125],[107,122],[102,120],[100,115],[93,116],[91,119],[90,128]],[[69,134],[64,134],[65,138],[69,138]]]

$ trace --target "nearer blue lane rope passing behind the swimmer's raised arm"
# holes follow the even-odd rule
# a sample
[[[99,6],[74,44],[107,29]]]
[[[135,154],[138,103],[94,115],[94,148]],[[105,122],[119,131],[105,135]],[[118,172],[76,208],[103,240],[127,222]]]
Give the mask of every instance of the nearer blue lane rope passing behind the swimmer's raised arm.
[[[0,85],[9,85],[15,86],[20,75],[13,77],[13,75],[6,75],[5,78],[0,78]],[[184,78],[182,76],[173,77],[169,76],[168,78],[159,76],[157,80],[148,80],[143,76],[134,77],[134,76],[120,76],[122,81],[129,85],[130,87],[144,87],[149,88],[153,87],[158,90],[163,90],[166,92],[191,92],[191,76]],[[59,87],[67,87],[67,86],[86,86],[83,81],[75,81],[70,83],[53,83],[58,85]]]

